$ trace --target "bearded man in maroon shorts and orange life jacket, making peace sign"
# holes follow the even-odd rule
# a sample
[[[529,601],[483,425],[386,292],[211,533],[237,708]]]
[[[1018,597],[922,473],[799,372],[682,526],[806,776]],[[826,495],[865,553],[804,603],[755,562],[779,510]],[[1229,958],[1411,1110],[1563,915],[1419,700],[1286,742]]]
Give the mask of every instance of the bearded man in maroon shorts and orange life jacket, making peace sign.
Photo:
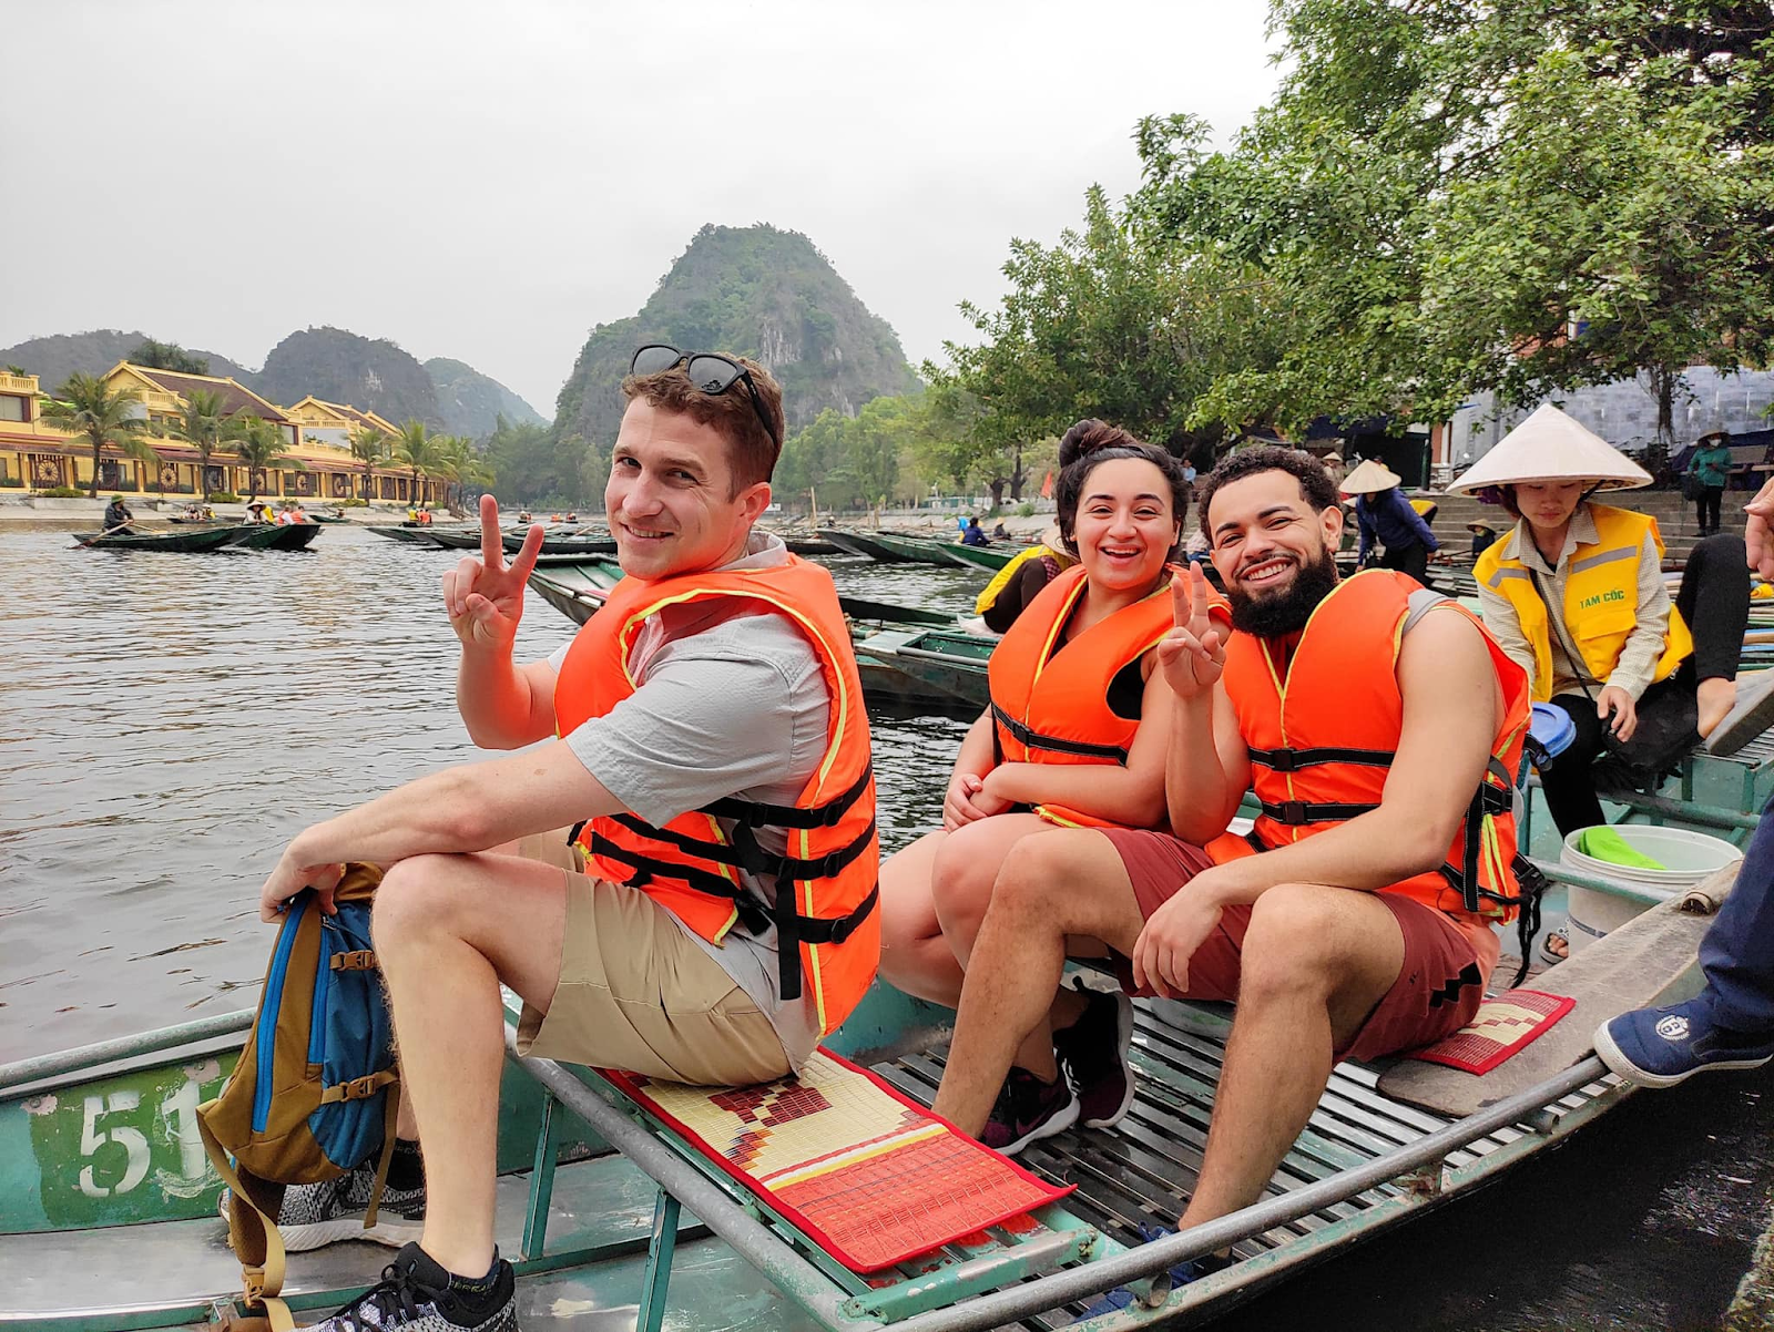
[[[1018,842],[974,926],[935,1103],[985,1124],[1086,938],[1125,993],[1236,1000],[1183,1227],[1263,1194],[1338,1059],[1472,1018],[1520,896],[1510,787],[1529,708],[1520,667],[1456,603],[1389,569],[1338,580],[1343,511],[1316,459],[1233,454],[1203,482],[1201,527],[1231,623],[1199,566],[1173,584],[1171,832]],[[1252,784],[1261,818],[1229,835]]]

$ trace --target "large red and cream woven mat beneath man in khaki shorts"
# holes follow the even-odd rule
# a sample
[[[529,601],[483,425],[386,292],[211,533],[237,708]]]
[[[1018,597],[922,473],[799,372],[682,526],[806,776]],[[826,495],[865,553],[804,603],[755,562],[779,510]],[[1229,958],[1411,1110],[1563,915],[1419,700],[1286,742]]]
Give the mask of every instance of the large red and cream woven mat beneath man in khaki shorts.
[[[880,1272],[1071,1192],[827,1050],[798,1078],[757,1087],[603,1075],[852,1272]]]

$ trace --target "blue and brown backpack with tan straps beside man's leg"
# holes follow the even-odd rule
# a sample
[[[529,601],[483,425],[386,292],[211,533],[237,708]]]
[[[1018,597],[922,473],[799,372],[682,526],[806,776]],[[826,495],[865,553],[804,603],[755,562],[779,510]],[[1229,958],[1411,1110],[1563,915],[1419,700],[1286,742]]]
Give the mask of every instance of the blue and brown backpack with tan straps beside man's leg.
[[[197,1128],[229,1187],[229,1245],[245,1302],[271,1328],[293,1320],[282,1300],[286,1185],[335,1179],[380,1153],[376,1204],[394,1155],[401,1087],[394,1023],[369,938],[381,871],[349,864],[334,892],[337,915],[305,889],[289,901],[264,972],[259,1013],[222,1094],[197,1107]],[[232,1156],[232,1165],[229,1158]]]

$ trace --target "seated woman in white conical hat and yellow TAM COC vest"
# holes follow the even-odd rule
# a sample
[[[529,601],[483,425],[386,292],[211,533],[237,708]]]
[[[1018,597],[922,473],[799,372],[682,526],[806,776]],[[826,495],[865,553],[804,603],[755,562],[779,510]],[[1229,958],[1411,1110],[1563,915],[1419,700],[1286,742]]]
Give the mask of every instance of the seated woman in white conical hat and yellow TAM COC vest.
[[[1774,720],[1769,692],[1763,708],[1739,709],[1742,717],[1721,729],[1737,701],[1749,615],[1742,539],[1714,536],[1694,546],[1671,605],[1657,520],[1591,498],[1648,484],[1644,468],[1545,404],[1448,488],[1501,504],[1517,520],[1472,575],[1485,624],[1527,670],[1535,697],[1563,706],[1577,724],[1575,743],[1540,773],[1566,834],[1605,821],[1590,763],[1604,741],[1632,740],[1641,720],[1685,711],[1719,748],[1740,748]],[[1643,748],[1627,757],[1648,759]]]

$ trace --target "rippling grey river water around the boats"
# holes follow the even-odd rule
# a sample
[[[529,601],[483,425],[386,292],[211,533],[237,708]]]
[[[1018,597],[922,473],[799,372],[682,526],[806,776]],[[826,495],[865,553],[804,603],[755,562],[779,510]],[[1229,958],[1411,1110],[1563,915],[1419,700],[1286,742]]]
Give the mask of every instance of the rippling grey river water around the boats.
[[[257,890],[302,827],[483,757],[452,702],[452,555],[328,527],[302,555],[0,530],[0,1062],[250,1007]],[[834,560],[963,608],[979,578]],[[520,660],[573,624],[532,592]],[[883,848],[940,816],[965,722],[876,715]],[[1476,1199],[1226,1328],[1715,1328],[1774,1197],[1774,1078],[1643,1094]]]

